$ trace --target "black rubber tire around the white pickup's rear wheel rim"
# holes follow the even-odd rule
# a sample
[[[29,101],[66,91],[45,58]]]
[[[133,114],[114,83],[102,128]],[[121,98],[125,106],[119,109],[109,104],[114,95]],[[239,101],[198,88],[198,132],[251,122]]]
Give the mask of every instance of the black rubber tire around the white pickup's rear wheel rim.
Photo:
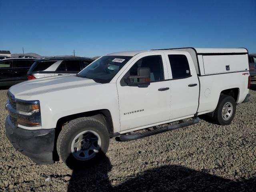
[[[222,116],[222,109],[223,109],[224,105],[227,104],[228,102],[232,105],[233,110],[232,110],[232,114],[231,114],[230,118],[228,120],[225,120],[224,117]],[[229,125],[232,122],[232,120],[235,116],[235,113],[236,113],[236,102],[235,102],[234,98],[229,95],[221,94],[217,108],[215,109],[214,114],[213,114],[214,122],[216,122],[219,125]]]

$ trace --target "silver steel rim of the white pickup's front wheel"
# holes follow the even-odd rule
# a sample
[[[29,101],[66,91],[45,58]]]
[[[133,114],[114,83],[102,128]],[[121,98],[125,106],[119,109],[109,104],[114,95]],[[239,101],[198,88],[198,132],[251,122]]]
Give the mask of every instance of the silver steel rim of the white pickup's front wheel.
[[[86,130],[77,134],[71,143],[71,153],[77,160],[89,160],[99,151],[101,139],[98,133]]]

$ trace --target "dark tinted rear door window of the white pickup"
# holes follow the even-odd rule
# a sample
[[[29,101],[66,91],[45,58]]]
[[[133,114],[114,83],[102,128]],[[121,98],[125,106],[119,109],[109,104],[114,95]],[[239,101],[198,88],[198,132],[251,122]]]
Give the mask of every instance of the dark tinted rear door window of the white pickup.
[[[171,69],[172,78],[186,78],[191,76],[188,59],[185,55],[168,55]]]

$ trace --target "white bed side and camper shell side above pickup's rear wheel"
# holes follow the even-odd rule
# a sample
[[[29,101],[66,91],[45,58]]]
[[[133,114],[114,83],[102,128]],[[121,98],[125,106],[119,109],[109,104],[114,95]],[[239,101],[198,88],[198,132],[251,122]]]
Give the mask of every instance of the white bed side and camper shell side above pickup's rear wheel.
[[[248,89],[248,53],[198,53],[201,74],[198,113],[215,110],[222,92],[234,92],[236,103],[241,103]]]

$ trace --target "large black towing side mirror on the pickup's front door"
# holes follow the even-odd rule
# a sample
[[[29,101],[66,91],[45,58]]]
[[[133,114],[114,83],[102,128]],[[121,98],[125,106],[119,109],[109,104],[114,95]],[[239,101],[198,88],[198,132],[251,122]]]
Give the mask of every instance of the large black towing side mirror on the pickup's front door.
[[[128,86],[147,87],[150,85],[150,68],[138,68],[136,76],[124,79]]]

